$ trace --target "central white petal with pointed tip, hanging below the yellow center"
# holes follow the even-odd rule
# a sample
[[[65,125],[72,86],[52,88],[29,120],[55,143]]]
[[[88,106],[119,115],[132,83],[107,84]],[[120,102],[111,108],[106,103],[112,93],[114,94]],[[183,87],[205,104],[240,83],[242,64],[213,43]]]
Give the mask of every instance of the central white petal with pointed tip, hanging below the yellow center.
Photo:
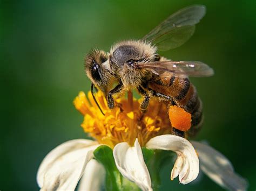
[[[150,174],[138,139],[135,140],[133,147],[127,143],[114,146],[113,156],[118,170],[125,178],[135,182],[142,190],[152,190]]]

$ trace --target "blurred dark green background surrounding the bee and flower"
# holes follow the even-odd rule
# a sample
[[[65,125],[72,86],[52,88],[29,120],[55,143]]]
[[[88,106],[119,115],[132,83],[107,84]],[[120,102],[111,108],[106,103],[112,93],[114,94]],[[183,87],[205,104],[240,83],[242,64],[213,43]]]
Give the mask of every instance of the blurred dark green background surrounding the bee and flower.
[[[173,60],[200,60],[213,77],[191,79],[204,103],[197,140],[207,140],[256,188],[255,1],[1,1],[1,190],[37,190],[44,156],[66,140],[85,138],[72,101],[89,91],[83,57],[139,39],[174,11],[204,4],[206,16]],[[172,164],[171,164],[172,165]],[[201,176],[180,185],[163,171],[162,190],[221,190]]]

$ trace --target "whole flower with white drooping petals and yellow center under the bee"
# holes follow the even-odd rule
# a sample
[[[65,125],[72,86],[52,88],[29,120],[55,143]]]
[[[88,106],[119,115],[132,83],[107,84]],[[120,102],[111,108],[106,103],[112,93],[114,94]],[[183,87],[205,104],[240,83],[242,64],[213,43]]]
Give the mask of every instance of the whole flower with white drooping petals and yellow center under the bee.
[[[171,180],[179,176],[180,183],[195,180],[201,170],[220,186],[241,189],[247,183],[234,173],[222,154],[208,145],[170,135],[171,125],[167,104],[151,101],[147,112],[140,112],[140,103],[132,95],[117,99],[118,107],[109,110],[104,95],[98,91],[96,99],[105,115],[97,108],[91,94],[83,92],[76,97],[75,107],[84,115],[82,127],[97,141],[76,139],[53,149],[42,161],[37,182],[42,190],[99,190],[105,182],[105,168],[93,152],[100,145],[113,149],[118,171],[135,182],[142,190],[152,190],[150,173],[145,164],[142,147],[176,152],[177,159],[171,171]],[[198,155],[199,159],[198,159]]]

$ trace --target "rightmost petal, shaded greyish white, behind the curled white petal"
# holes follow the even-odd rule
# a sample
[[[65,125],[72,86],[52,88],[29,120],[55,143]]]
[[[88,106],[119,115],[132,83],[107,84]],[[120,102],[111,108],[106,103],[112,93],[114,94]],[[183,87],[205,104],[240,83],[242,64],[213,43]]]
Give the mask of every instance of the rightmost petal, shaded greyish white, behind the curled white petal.
[[[247,181],[234,172],[231,162],[214,148],[199,142],[192,142],[196,148],[200,169],[221,187],[230,190],[246,190]]]

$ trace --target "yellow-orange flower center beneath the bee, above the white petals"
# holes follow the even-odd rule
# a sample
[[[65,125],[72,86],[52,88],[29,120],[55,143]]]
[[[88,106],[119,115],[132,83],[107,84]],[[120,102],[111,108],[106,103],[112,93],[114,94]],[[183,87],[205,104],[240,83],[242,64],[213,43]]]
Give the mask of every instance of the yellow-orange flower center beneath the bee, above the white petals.
[[[87,97],[81,91],[74,100],[75,107],[84,116],[81,124],[99,143],[110,147],[120,142],[131,146],[138,138],[141,146],[158,135],[171,134],[172,127],[168,117],[166,102],[151,100],[146,112],[140,111],[140,102],[128,93],[128,98],[115,99],[116,107],[109,109],[101,91],[95,94],[96,100],[105,116],[100,112],[89,92]]]

